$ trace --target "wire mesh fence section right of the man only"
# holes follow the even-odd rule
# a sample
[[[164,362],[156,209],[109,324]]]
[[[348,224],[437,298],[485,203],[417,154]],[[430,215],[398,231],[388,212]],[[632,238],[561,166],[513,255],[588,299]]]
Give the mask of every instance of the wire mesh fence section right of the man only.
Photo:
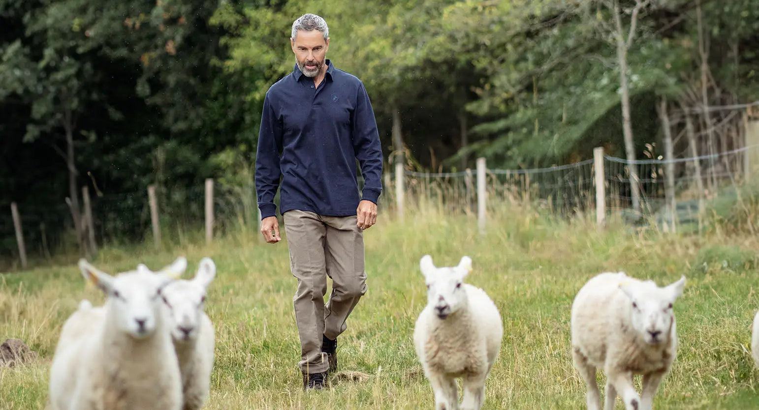
[[[754,158],[754,159],[751,159]],[[677,200],[679,220],[696,218],[699,201],[714,199],[726,189],[742,185],[751,174],[750,164],[759,160],[759,146],[748,146],[694,158],[628,161],[603,155],[605,208],[626,220],[662,218],[666,208],[667,172],[672,174],[672,197]],[[633,208],[631,171],[637,171],[641,207]],[[534,169],[487,169],[487,207],[519,203],[552,214],[569,216],[596,209],[594,160]],[[446,211],[472,213],[477,203],[474,171],[451,173],[403,172],[404,204],[398,198],[389,207],[414,208],[435,204]],[[384,196],[395,196],[398,176],[386,178]],[[685,211],[685,214],[682,214]]]

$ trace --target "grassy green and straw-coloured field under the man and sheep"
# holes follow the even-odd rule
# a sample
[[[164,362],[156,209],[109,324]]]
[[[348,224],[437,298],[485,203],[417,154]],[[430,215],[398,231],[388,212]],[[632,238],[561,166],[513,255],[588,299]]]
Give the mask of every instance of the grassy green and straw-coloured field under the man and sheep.
[[[470,255],[468,282],[486,290],[501,311],[504,338],[484,408],[584,408],[584,383],[570,354],[570,306],[591,276],[620,270],[660,284],[688,277],[674,309],[681,345],[657,408],[759,406],[759,371],[749,351],[759,308],[755,236],[621,227],[597,233],[584,221],[547,221],[513,209],[490,218],[487,236],[465,216],[417,212],[401,223],[381,214],[365,241],[369,292],[339,338],[342,377],[324,392],[301,390],[295,280],[285,243],[238,235],[173,252],[103,249],[96,266],[109,272],[140,262],[159,268],[187,255],[187,276],[201,257],[216,261],[207,302],[217,337],[209,409],[433,408],[411,342],[426,303],[418,261],[427,253],[438,266]],[[2,409],[43,408],[61,324],[80,299],[102,302],[73,262],[0,276],[0,341],[19,338],[41,356],[36,364],[0,370]],[[603,374],[598,378],[603,386]]]

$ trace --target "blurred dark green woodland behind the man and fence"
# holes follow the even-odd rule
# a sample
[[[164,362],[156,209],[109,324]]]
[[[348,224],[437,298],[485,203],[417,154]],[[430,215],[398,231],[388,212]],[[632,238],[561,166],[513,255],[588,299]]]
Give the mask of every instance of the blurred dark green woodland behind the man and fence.
[[[708,105],[757,100],[757,6],[0,0],[0,208],[45,212],[83,185],[244,183],[263,96],[292,70],[291,23],[307,12],[329,23],[328,58],[366,84],[386,158],[402,150],[411,167],[459,170],[480,155],[489,167],[550,166],[600,145],[624,155],[616,17],[625,36],[637,19],[625,58],[638,153],[660,139],[662,96],[673,127],[694,116],[698,152],[717,124],[709,143],[734,148],[741,115],[699,110],[704,95]]]

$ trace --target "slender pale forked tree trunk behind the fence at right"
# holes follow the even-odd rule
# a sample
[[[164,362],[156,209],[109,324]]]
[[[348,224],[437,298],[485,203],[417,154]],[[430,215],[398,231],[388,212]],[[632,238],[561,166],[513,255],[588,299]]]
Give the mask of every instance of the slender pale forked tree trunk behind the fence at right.
[[[632,162],[635,162],[635,142],[632,137],[632,124],[630,121],[630,90],[627,82],[627,50],[628,45],[625,44],[625,39],[622,33],[622,20],[619,17],[621,11],[619,10],[619,3],[614,2],[613,6],[614,20],[616,23],[616,44],[617,44],[617,58],[619,60],[619,85],[622,89],[622,133],[625,137],[625,154],[627,160],[631,162],[628,164],[628,172],[630,174],[630,190],[632,197],[633,211],[639,213],[641,211],[641,188],[638,178],[638,167]],[[635,13],[637,14],[637,13]],[[635,15],[634,17],[635,18]],[[631,21],[631,24],[635,24],[635,20]],[[631,29],[634,26],[631,26]],[[630,31],[628,36],[628,42],[631,42],[634,30]]]

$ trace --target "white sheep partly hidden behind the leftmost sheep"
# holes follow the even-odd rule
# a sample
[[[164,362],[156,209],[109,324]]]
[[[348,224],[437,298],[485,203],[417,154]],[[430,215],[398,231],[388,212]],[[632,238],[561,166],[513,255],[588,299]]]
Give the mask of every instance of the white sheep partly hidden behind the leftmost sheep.
[[[192,280],[175,280],[162,296],[171,317],[171,333],[182,377],[184,410],[203,407],[213,370],[214,329],[203,308],[216,265],[203,258]]]

